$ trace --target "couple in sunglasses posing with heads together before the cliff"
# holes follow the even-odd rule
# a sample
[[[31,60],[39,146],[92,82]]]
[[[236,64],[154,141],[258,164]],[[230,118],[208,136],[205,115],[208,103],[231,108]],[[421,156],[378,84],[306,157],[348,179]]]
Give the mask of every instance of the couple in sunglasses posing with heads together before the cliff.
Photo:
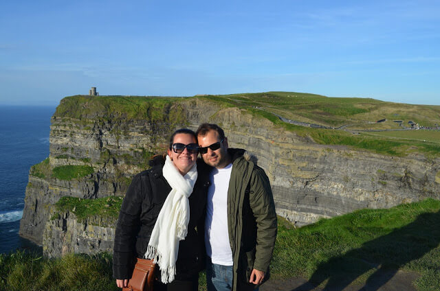
[[[157,261],[155,291],[197,290],[205,265],[208,291],[253,290],[268,279],[274,200],[248,152],[228,148],[216,124],[202,124],[174,132],[166,157],[151,164],[122,202],[113,253],[118,287],[128,283],[135,257]]]

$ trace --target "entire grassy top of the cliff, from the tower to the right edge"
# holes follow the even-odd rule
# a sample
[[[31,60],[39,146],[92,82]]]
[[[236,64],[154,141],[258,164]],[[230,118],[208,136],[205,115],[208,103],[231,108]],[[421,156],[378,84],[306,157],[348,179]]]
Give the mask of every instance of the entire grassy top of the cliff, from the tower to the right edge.
[[[193,97],[88,96],[65,97],[55,117],[77,119],[145,119],[172,124],[181,119],[183,102],[201,100],[221,107],[238,107],[252,115],[269,119],[276,126],[310,137],[316,143],[344,145],[372,150],[380,154],[406,156],[422,153],[440,155],[440,131],[401,130],[408,122],[425,127],[440,125],[440,106],[382,102],[371,98],[325,97],[308,93],[266,92],[232,95],[197,95]],[[171,114],[175,112],[175,114]],[[344,130],[309,128],[282,121],[279,117]],[[376,122],[386,119],[383,122]],[[396,130],[365,132],[355,130]]]

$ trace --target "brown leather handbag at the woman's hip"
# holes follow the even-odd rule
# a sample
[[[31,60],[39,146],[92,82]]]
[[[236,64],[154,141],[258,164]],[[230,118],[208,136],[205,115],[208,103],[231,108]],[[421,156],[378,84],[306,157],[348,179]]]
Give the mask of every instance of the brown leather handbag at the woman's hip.
[[[156,264],[152,259],[137,259],[128,287],[122,291],[153,291]]]

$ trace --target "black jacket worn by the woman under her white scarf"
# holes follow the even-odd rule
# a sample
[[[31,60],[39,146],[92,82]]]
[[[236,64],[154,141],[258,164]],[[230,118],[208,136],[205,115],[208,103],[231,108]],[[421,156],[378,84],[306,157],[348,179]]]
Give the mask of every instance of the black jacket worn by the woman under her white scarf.
[[[137,174],[131,181],[119,213],[113,246],[113,277],[130,279],[135,257],[143,258],[157,216],[164,205],[170,185],[162,176],[164,158],[156,156],[152,168]],[[190,203],[188,235],[179,242],[175,279],[190,279],[205,263],[203,230],[206,194],[209,187],[207,171],[198,171]]]

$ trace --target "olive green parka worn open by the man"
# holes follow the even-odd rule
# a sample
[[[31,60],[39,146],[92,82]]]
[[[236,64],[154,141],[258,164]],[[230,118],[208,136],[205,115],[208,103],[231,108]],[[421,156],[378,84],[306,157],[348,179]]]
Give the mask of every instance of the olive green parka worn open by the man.
[[[276,240],[277,222],[269,178],[245,150],[228,149],[232,172],[228,189],[228,231],[234,262],[232,291],[252,290],[252,269],[265,272]]]

